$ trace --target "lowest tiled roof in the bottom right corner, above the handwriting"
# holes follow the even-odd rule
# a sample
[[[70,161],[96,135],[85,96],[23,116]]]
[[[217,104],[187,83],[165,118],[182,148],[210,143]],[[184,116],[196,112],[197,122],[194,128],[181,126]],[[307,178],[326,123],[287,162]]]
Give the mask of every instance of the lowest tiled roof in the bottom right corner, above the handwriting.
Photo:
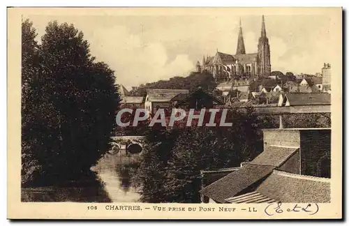
[[[324,203],[331,201],[329,179],[274,170],[255,190],[280,202]]]

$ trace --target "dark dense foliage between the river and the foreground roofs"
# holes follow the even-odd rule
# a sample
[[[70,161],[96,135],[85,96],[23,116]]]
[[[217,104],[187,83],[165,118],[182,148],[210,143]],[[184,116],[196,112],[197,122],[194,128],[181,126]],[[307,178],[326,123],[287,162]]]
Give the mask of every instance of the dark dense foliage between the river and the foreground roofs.
[[[152,128],[133,180],[142,188],[142,202],[199,202],[200,170],[237,167],[262,151],[259,128],[274,127],[268,119],[230,110],[231,127]]]

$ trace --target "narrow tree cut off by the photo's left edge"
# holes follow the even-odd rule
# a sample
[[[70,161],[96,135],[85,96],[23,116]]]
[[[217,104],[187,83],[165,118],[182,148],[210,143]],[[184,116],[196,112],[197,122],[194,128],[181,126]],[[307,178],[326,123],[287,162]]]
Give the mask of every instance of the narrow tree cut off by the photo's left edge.
[[[22,183],[34,179],[40,172],[40,165],[34,153],[39,151],[39,133],[34,123],[39,119],[36,105],[38,91],[38,43],[36,30],[29,20],[22,22]],[[33,137],[36,135],[36,137]]]

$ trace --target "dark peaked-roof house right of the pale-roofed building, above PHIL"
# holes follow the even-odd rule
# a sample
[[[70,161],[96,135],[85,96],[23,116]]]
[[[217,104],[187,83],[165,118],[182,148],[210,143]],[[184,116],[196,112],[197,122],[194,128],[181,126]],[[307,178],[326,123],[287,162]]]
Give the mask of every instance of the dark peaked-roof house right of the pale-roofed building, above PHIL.
[[[198,88],[191,93],[178,93],[170,101],[174,107],[195,110],[211,108],[216,105],[224,105],[222,100],[219,100],[213,94],[208,93],[202,88]]]

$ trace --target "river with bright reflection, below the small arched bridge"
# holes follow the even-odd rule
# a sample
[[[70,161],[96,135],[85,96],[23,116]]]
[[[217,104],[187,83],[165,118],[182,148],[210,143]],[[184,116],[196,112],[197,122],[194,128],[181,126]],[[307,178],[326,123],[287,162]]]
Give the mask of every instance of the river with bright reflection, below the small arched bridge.
[[[140,202],[127,163],[133,157],[105,154],[91,176],[61,186],[22,188],[22,202]]]

